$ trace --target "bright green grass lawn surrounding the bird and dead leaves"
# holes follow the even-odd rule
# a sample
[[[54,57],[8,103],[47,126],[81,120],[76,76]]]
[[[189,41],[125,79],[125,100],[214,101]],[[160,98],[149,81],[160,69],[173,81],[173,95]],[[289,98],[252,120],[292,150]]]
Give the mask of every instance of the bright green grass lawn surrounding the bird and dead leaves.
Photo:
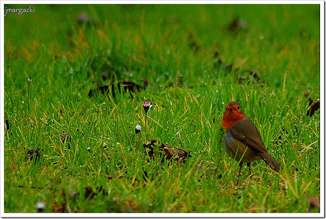
[[[319,5],[35,6],[4,18],[4,213],[35,213],[39,201],[45,213],[320,212],[310,202],[320,199],[320,113],[306,116],[304,95],[320,96]],[[77,24],[81,12],[94,22]],[[247,28],[229,31],[235,18]],[[263,82],[240,86],[250,70]],[[93,72],[100,85],[151,85],[88,98]],[[245,166],[236,176],[220,125],[232,100],[279,173],[258,161],[252,180]],[[192,157],[149,159],[151,140]],[[26,159],[39,147],[40,160]]]

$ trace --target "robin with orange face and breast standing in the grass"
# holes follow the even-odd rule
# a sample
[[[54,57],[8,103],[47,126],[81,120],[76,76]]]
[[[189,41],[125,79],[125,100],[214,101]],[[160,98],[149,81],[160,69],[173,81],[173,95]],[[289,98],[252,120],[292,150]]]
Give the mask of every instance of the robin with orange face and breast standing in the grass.
[[[226,105],[222,126],[226,131],[224,146],[226,152],[236,161],[240,161],[239,176],[243,163],[247,163],[251,176],[250,162],[261,159],[273,170],[280,170],[280,164],[268,153],[258,129],[244,115],[238,102],[230,102]]]

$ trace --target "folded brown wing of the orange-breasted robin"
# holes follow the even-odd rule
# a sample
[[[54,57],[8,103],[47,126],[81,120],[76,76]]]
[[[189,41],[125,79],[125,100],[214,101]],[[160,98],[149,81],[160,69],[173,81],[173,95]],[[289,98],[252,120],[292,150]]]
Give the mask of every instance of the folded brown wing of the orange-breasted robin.
[[[258,129],[247,117],[233,125],[229,131],[236,139],[240,140],[247,146],[268,153],[263,141],[261,140]]]

